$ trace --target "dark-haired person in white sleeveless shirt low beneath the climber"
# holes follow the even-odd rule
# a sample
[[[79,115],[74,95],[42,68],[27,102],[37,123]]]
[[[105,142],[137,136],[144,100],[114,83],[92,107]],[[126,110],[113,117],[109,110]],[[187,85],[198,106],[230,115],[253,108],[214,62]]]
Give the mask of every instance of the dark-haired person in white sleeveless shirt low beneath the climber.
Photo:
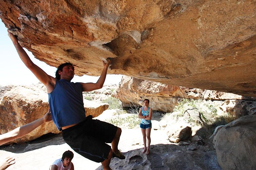
[[[62,154],[61,159],[56,159],[50,166],[50,170],[74,170],[74,165],[71,160],[74,157],[74,153],[71,151],[65,151]]]

